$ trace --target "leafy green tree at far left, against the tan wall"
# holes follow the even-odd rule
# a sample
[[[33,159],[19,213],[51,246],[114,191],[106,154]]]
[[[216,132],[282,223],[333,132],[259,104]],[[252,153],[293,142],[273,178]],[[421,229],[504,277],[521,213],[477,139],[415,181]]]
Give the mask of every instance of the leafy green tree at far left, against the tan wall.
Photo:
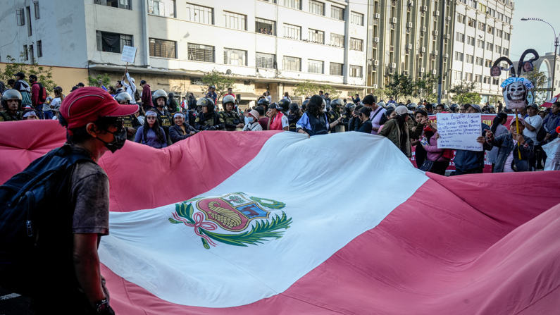
[[[29,53],[30,51],[27,51],[27,54]],[[20,52],[19,62],[10,55],[6,56],[8,63],[6,63],[6,68],[4,68],[4,71],[0,72],[0,80],[6,83],[6,81],[10,79],[15,79],[15,73],[23,72],[25,74],[24,80],[27,82],[27,78],[29,78],[30,75],[37,75],[37,81],[41,83],[47,91],[52,92],[56,87],[56,83],[54,82],[54,80],[52,80],[53,67],[45,68],[43,66],[39,66],[37,65],[37,63],[35,62],[35,58],[33,57],[31,58],[30,63],[25,63],[25,55],[25,51]]]

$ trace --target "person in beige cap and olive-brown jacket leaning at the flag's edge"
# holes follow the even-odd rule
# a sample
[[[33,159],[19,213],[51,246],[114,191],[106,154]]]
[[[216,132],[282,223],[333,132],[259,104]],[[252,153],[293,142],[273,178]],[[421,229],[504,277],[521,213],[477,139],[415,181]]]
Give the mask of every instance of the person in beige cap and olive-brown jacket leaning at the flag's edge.
[[[406,106],[401,105],[397,106],[394,113],[397,115],[383,125],[378,135],[387,137],[387,139],[391,140],[402,153],[410,158],[412,156],[411,138],[418,139],[422,135],[426,119],[423,118],[418,125],[416,125],[416,128],[411,128],[407,121],[410,119],[409,114],[411,114],[412,111],[409,111]]]

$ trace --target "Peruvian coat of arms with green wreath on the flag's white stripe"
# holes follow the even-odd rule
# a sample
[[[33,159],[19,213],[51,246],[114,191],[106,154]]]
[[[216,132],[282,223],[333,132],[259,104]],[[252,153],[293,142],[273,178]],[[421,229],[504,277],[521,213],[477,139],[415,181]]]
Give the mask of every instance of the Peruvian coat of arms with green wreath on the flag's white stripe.
[[[271,210],[280,210],[286,204],[272,199],[252,197],[243,192],[218,197],[198,197],[175,204],[170,223],[185,224],[194,228],[201,237],[204,248],[216,246],[216,242],[227,245],[259,245],[270,239],[282,237],[290,228],[292,218],[270,215]],[[223,233],[214,232],[221,229]]]

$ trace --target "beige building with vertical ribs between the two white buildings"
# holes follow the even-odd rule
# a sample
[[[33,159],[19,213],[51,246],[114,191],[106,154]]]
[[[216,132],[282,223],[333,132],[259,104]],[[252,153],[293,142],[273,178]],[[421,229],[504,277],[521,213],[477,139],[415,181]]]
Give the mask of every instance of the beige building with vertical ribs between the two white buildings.
[[[388,75],[393,73],[413,80],[441,76],[440,94],[446,101],[451,82],[454,10],[454,2],[449,0],[371,0],[368,86],[386,87]],[[437,86],[431,92],[437,93]]]

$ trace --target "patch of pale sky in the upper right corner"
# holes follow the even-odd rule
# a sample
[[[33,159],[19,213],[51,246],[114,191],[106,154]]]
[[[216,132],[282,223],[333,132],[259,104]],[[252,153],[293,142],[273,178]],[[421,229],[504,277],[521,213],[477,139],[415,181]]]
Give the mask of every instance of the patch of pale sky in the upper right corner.
[[[516,0],[511,35],[511,61],[518,61],[525,49],[533,48],[540,55],[554,51],[554,32],[560,34],[560,0]],[[540,18],[552,25],[540,21],[522,21],[521,18]],[[557,51],[558,53],[558,51]]]

